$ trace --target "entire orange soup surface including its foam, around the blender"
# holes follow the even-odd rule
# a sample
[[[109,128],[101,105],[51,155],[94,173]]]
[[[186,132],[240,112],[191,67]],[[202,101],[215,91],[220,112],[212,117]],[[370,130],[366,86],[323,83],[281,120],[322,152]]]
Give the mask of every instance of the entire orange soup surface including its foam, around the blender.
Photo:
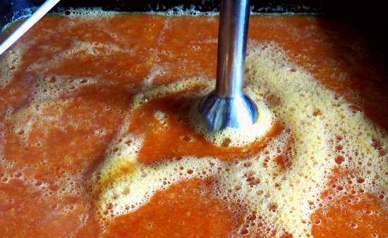
[[[2,237],[388,237],[388,83],[358,32],[250,19],[260,130],[211,134],[217,18],[49,16],[0,58]]]

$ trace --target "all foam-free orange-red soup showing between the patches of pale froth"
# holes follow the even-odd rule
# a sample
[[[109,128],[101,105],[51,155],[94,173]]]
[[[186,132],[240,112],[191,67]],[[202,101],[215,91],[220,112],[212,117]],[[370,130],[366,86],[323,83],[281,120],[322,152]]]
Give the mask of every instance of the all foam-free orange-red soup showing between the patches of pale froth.
[[[253,16],[249,37],[277,42],[320,83],[344,95],[355,109],[388,129],[387,76],[357,32],[347,25],[317,16]],[[98,237],[101,230],[95,219],[95,198],[87,181],[102,162],[133,93],[145,87],[143,78],[155,64],[162,65],[165,73],[156,76],[152,85],[198,75],[214,78],[216,38],[217,18],[213,17],[49,16],[30,30],[20,40],[20,44],[28,44],[20,66],[0,69],[15,71],[11,83],[0,88],[0,236]],[[80,52],[44,69],[47,75],[68,76],[68,81],[83,78],[87,83],[87,77],[93,77],[97,83],[65,90],[57,103],[40,108],[44,119],[31,120],[28,137],[23,138],[27,131],[16,131],[18,117],[13,115],[36,97],[35,71],[43,70],[29,66],[53,59],[75,40],[111,42],[127,51],[111,51],[104,57]],[[107,51],[98,46],[97,50]],[[346,80],[338,81],[339,73],[347,73]],[[47,78],[48,84],[55,81]],[[156,121],[145,123],[152,121],[152,110],[160,108],[171,112],[174,126],[168,131],[155,130],[159,128]],[[146,135],[139,156],[143,163],[182,155],[212,155],[231,161],[265,146],[216,148],[193,133],[186,118],[180,118],[187,108],[179,100],[155,100],[144,110],[143,114],[135,112],[129,129]],[[26,124],[28,120],[18,122]],[[186,122],[180,124],[179,120]],[[286,159],[279,157],[279,164],[286,166]],[[212,186],[212,180],[195,179],[158,191],[134,213],[115,218],[104,235],[228,237],[242,219],[231,209],[238,205],[212,196]],[[328,184],[327,193],[334,189]],[[375,232],[388,237],[388,213],[381,206],[386,194],[376,198],[357,193],[336,201],[327,196],[322,194],[327,208],[318,208],[311,217],[314,237],[373,237]]]

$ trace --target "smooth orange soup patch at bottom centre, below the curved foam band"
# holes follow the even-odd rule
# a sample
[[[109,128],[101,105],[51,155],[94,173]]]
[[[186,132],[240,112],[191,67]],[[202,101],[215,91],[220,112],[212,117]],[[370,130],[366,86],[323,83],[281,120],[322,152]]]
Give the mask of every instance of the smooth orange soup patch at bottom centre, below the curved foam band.
[[[231,214],[211,190],[211,180],[173,185],[147,206],[116,218],[107,237],[228,237],[241,215]]]

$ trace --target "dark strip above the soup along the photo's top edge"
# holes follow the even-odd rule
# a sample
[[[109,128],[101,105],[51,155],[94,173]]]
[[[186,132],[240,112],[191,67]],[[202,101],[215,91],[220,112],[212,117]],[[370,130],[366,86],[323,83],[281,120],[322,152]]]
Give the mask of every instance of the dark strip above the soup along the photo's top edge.
[[[33,6],[40,6],[42,0],[1,0],[0,1],[0,26],[8,23],[13,16],[23,16],[23,10]],[[344,1],[344,0],[251,0],[254,6],[253,11],[260,13],[323,13],[330,16],[339,16],[348,18],[358,23],[365,20],[374,20],[375,22],[384,21],[387,8],[384,1]],[[218,10],[219,1],[214,0],[62,0],[58,7],[92,7],[102,6],[104,10],[114,11],[163,11],[166,8],[174,6],[183,6],[190,8],[195,6],[199,11]],[[281,8],[279,7],[281,6]],[[16,14],[16,15],[15,15]],[[365,19],[363,16],[367,16]]]

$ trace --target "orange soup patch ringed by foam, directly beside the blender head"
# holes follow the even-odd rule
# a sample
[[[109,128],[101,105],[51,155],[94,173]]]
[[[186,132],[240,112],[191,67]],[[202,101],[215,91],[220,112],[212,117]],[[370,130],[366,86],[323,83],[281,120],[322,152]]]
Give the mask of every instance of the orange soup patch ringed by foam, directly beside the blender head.
[[[164,159],[179,159],[184,155],[215,156],[230,161],[248,157],[265,147],[265,141],[257,141],[242,148],[229,147],[227,140],[222,147],[205,141],[203,136],[193,131],[188,121],[190,102],[191,100],[174,95],[152,100],[135,110],[129,131],[145,132],[145,141],[138,155],[139,162],[160,162]],[[168,126],[154,118],[154,112],[158,110],[164,112]],[[278,132],[279,126],[276,125],[267,136]]]

